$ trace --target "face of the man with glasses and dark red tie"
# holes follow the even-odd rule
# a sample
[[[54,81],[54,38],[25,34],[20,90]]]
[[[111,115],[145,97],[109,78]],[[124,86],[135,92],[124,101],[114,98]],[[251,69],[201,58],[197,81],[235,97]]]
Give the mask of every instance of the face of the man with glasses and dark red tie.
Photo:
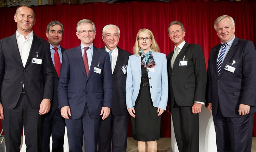
[[[81,33],[85,31],[84,33]],[[93,31],[90,33],[89,31]],[[96,31],[93,30],[93,26],[90,23],[85,23],[79,26],[79,31],[76,32],[76,36],[80,39],[81,43],[85,46],[90,46],[95,39]]]

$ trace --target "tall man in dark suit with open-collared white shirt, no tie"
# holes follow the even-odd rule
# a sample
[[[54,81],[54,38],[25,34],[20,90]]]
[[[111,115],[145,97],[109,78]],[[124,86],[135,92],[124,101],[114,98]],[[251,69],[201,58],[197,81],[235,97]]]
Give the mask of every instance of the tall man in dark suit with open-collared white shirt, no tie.
[[[7,152],[20,151],[23,126],[27,152],[37,152],[41,115],[49,111],[52,99],[50,46],[32,31],[31,6],[18,6],[14,20],[16,33],[0,40],[0,118]]]

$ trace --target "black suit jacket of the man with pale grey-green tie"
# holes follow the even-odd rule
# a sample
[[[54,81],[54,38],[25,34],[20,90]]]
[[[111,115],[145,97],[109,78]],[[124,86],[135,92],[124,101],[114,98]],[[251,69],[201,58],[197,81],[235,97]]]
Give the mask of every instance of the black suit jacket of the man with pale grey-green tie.
[[[192,106],[195,101],[205,102],[206,66],[204,54],[199,44],[185,43],[171,69],[174,51],[167,56],[169,81],[169,108],[174,103],[179,106]],[[179,66],[179,60],[188,59],[187,66]]]

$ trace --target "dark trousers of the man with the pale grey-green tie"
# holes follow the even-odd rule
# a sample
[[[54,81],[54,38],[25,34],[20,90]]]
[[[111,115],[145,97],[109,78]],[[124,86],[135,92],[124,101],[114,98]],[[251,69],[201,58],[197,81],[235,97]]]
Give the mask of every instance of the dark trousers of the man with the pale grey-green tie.
[[[199,152],[199,115],[192,107],[171,108],[175,138],[179,152]]]

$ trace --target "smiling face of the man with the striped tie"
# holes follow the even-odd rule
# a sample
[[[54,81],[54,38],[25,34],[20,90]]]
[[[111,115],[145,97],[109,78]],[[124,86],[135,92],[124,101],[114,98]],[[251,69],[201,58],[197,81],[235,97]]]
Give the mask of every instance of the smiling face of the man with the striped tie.
[[[235,26],[232,25],[228,17],[225,17],[216,24],[216,31],[221,42],[227,43],[233,39],[235,35]]]

